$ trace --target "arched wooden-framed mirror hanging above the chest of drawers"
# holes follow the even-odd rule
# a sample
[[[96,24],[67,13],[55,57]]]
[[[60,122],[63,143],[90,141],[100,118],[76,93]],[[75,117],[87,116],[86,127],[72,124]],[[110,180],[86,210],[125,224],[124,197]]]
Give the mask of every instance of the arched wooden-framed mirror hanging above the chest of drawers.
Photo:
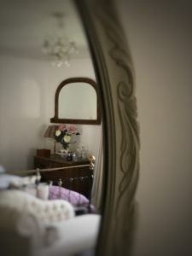
[[[65,79],[55,91],[51,123],[100,125],[101,109],[96,82],[89,78]]]

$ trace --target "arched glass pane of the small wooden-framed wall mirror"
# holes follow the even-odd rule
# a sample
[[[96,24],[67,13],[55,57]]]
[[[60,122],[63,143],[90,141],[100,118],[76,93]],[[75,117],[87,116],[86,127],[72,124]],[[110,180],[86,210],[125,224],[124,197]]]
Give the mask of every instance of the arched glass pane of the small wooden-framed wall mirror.
[[[59,119],[96,119],[96,90],[86,83],[66,84],[58,101]]]

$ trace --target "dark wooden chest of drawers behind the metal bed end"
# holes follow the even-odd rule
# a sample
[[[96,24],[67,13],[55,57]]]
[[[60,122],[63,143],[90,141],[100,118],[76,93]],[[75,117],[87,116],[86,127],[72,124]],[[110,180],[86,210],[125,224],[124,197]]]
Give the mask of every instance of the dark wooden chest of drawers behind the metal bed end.
[[[62,170],[41,172],[42,182],[52,181],[53,184],[58,184],[61,178],[62,187],[77,191],[88,198],[90,198],[93,174],[89,164],[89,160],[68,161],[57,154],[52,154],[49,157],[34,156],[35,169],[67,167]]]

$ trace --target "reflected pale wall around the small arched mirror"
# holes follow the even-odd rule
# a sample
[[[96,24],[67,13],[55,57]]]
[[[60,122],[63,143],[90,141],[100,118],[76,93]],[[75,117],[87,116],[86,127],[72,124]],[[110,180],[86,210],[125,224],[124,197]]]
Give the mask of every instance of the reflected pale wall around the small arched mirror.
[[[54,116],[55,90],[62,80],[79,76],[95,79],[89,58],[72,60],[71,67],[53,67],[45,61],[0,56],[0,165],[6,170],[32,169],[37,148],[53,149],[53,142],[43,136]],[[101,126],[77,127],[79,145],[96,155]]]

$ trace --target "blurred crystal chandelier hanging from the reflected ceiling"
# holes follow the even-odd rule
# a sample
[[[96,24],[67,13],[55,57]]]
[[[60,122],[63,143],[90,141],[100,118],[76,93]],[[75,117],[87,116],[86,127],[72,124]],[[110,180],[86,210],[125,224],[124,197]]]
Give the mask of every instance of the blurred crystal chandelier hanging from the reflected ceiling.
[[[71,41],[64,34],[64,14],[55,13],[53,15],[56,21],[54,31],[44,38],[43,49],[44,54],[49,55],[52,59],[52,64],[61,67],[64,63],[67,67],[70,66],[70,56],[79,51],[74,41]]]

